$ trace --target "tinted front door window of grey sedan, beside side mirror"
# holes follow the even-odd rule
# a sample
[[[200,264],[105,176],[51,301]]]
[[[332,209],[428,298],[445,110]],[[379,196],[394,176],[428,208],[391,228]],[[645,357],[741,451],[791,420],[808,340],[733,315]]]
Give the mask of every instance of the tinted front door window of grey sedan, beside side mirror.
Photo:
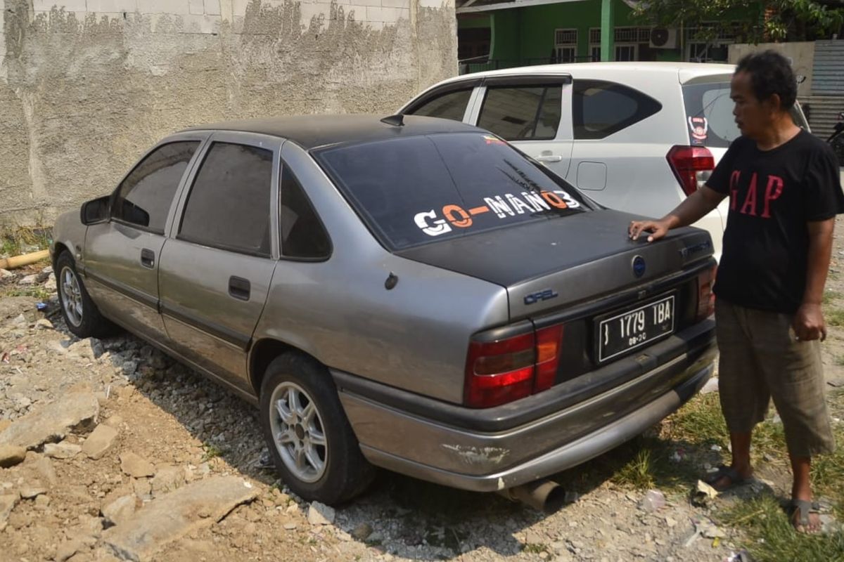
[[[164,233],[167,213],[198,141],[170,142],[139,163],[117,187],[111,217]]]

